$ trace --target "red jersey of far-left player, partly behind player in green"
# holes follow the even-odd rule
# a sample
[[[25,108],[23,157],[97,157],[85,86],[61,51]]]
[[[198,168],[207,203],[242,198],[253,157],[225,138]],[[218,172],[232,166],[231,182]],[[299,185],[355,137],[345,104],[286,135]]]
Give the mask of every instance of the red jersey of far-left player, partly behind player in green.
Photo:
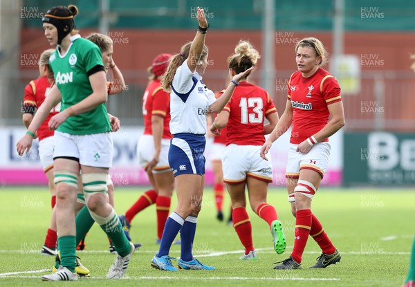
[[[40,105],[44,102],[45,97],[48,94],[50,89],[50,83],[48,78],[39,77],[36,80],[30,81],[29,84],[24,88],[24,106],[25,107],[33,107],[39,108]],[[53,136],[54,131],[50,131],[48,127],[48,122],[53,115],[59,113],[60,110],[60,102],[57,104],[52,110],[46,120],[42,122],[39,129],[37,130],[37,136],[39,137],[39,141],[43,140],[44,138],[48,138],[49,136]]]

